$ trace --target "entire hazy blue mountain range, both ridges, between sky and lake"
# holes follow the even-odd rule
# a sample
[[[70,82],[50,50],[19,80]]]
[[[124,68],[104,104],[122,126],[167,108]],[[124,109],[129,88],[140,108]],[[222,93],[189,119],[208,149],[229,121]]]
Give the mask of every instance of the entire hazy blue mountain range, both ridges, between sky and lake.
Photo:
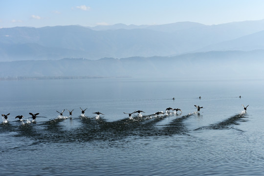
[[[1,28],[0,77],[239,76],[262,63],[263,39],[264,20]]]

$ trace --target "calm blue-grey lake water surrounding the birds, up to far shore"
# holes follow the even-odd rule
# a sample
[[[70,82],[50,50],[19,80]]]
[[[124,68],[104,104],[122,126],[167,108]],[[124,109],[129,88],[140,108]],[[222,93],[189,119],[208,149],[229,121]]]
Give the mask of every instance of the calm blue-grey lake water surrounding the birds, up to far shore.
[[[0,81],[0,113],[10,113],[0,175],[263,176],[263,89],[264,80]],[[182,113],[154,115],[168,107]],[[135,110],[145,113],[123,113]]]

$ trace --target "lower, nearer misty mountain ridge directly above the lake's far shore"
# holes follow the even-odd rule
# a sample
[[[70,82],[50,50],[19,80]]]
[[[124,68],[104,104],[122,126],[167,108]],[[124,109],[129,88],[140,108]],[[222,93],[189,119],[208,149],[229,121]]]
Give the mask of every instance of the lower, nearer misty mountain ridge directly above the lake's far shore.
[[[264,50],[210,51],[173,57],[99,60],[65,58],[0,62],[0,80],[93,77],[173,77],[179,80],[263,79],[263,56]]]

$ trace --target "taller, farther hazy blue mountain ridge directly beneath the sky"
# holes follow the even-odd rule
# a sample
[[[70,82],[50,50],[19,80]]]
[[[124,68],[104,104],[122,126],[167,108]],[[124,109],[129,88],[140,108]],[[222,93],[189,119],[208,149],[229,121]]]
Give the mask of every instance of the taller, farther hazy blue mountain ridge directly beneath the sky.
[[[0,61],[172,56],[264,49],[264,20],[204,25],[53,26],[0,29]],[[244,45],[244,46],[242,46]]]

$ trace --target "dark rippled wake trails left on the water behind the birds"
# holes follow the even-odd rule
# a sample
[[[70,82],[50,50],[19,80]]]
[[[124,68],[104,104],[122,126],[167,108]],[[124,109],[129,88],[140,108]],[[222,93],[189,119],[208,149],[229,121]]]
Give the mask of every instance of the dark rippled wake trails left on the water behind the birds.
[[[39,123],[21,122],[22,125],[1,125],[0,131],[17,132],[15,136],[29,137],[38,142],[86,142],[91,140],[109,140],[115,141],[123,138],[148,137],[148,136],[172,136],[188,135],[190,130],[185,125],[184,121],[196,113],[188,113],[181,115],[174,112],[164,114],[137,114],[132,117],[124,118],[117,121],[109,122],[99,116],[71,116],[59,115],[55,119]],[[97,118],[98,117],[98,118]],[[239,114],[230,118],[212,124],[206,127],[200,127],[195,130],[202,129],[227,129],[231,125],[238,125],[241,121],[246,121],[243,118],[246,113],[242,111]],[[63,121],[78,121],[80,124],[76,128],[67,129],[61,124]],[[9,124],[9,125],[8,125]],[[159,125],[162,124],[162,125]]]

